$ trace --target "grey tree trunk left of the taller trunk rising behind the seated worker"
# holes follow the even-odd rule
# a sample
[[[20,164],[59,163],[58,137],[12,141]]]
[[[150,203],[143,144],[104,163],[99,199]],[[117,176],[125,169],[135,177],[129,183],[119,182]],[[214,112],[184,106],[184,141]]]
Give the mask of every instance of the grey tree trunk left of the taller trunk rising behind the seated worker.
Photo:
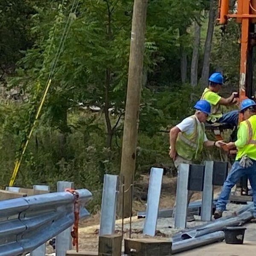
[[[201,25],[197,21],[194,22],[194,48],[191,61],[191,85],[195,87],[198,84],[198,57],[201,38]]]

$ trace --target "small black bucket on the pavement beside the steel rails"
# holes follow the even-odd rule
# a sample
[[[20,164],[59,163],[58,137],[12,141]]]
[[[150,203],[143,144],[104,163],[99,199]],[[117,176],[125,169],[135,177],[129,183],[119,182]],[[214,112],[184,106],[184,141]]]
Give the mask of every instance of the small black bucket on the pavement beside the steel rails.
[[[224,229],[226,244],[243,244],[246,227],[226,227]]]

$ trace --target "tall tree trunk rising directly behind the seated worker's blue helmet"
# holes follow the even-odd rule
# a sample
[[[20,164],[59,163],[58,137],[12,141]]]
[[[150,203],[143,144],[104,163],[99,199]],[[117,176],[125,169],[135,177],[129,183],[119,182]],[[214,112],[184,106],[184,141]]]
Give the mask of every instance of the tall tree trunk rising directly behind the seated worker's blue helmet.
[[[215,0],[210,0],[209,22],[208,22],[207,36],[204,44],[204,61],[203,61],[203,69],[202,69],[201,81],[200,81],[201,86],[208,85],[214,20],[215,20]]]

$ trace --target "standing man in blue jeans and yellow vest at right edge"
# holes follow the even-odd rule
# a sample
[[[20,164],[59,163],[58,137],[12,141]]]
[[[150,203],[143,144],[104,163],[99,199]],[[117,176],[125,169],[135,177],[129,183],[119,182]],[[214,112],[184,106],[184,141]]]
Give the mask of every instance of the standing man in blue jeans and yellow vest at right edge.
[[[227,143],[229,149],[236,147],[236,161],[221,190],[214,218],[220,218],[226,209],[230,191],[240,177],[247,175],[253,190],[254,217],[256,217],[256,103],[251,99],[241,102],[240,112],[244,121],[240,123],[237,140]]]

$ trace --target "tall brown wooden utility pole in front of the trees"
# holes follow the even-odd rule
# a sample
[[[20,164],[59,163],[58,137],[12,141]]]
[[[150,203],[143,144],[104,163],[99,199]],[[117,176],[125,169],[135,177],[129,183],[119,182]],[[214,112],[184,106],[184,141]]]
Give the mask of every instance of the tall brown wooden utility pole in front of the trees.
[[[120,184],[125,180],[124,217],[130,216],[131,182],[134,179],[137,134],[142,86],[143,53],[148,0],[134,0],[131,26],[129,74],[122,140]],[[122,189],[119,189],[118,213],[122,215]]]

